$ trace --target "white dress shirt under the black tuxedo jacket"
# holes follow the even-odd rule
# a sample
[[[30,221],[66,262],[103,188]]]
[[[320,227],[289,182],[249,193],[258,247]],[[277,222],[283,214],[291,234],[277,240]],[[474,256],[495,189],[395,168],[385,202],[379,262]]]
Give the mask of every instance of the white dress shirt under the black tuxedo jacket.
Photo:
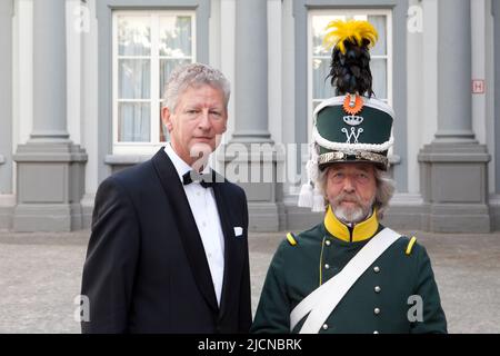
[[[192,168],[180,158],[170,144],[164,147],[176,167],[179,179],[182,184],[182,176]],[[203,169],[203,174],[210,171],[210,167]],[[203,188],[199,182],[183,185],[189,206],[191,207],[198,231],[203,243],[204,254],[212,276],[213,288],[216,290],[217,303],[220,305],[222,281],[224,276],[224,236],[220,224],[219,211],[217,209],[216,197],[212,188]]]

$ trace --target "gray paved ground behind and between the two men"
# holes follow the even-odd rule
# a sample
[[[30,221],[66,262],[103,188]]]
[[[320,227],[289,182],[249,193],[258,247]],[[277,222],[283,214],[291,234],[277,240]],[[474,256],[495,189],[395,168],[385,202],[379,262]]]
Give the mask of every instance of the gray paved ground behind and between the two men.
[[[500,234],[416,233],[432,259],[450,333],[500,333]],[[74,297],[89,231],[0,233],[0,333],[79,333]],[[283,234],[251,234],[256,309]]]

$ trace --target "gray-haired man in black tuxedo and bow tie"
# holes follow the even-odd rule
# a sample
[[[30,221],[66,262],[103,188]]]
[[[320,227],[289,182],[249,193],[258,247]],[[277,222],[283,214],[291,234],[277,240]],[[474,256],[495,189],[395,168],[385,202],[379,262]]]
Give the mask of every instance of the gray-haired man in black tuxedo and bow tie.
[[[161,111],[171,141],[96,195],[82,333],[247,333],[244,191],[207,159],[228,120],[229,82],[208,66],[174,70]]]

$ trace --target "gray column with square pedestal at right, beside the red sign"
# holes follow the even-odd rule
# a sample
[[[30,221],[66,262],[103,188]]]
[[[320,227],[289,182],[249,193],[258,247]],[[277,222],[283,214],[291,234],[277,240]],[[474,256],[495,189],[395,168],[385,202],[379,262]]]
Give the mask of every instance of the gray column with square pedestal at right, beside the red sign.
[[[472,131],[470,11],[470,0],[438,1],[438,131],[419,154],[422,229],[437,233],[491,228],[490,155]]]

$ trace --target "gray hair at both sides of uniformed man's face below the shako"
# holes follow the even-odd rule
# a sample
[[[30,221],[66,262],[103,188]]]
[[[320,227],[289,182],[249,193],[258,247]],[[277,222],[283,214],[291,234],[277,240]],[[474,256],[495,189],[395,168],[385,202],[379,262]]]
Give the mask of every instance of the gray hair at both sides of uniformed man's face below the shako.
[[[331,166],[330,166],[331,167]],[[324,205],[328,206],[329,201],[327,199],[327,176],[330,167],[327,167],[323,170],[320,170],[318,176],[317,186],[324,197]],[[377,166],[374,168],[374,176],[377,182],[377,192],[373,201],[373,208],[377,209],[377,218],[382,219],[383,214],[389,207],[389,200],[391,200],[392,195],[394,194],[396,182],[388,175],[387,171],[381,170]]]

